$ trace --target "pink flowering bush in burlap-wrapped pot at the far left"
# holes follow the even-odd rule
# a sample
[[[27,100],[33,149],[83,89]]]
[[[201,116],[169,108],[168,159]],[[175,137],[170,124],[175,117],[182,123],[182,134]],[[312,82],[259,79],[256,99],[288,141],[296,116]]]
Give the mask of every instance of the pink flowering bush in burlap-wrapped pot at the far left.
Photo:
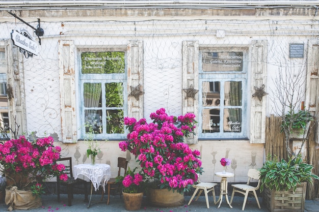
[[[0,142],[0,170],[7,178],[5,202],[11,210],[40,207],[44,180],[68,178],[62,173],[64,165],[56,163],[61,147],[53,142],[52,137],[28,140],[24,136]]]

